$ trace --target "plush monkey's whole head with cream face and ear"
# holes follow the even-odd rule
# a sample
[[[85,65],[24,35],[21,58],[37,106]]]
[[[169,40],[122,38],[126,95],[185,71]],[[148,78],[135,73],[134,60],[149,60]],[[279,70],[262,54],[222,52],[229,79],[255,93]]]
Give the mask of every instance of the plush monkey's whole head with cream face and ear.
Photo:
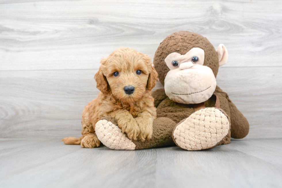
[[[175,32],[159,45],[154,66],[165,94],[174,102],[198,104],[216,89],[218,67],[227,61],[223,44],[215,50],[207,38],[188,31]]]

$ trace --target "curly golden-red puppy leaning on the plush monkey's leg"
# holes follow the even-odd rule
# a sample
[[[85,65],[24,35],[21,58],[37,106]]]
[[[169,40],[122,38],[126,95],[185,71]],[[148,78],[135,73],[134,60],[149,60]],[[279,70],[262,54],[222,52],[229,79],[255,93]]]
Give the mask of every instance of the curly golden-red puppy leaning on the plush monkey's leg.
[[[119,48],[101,60],[95,75],[98,97],[82,112],[82,136],[66,137],[65,144],[80,144],[83,148],[100,146],[95,124],[102,117],[111,116],[129,139],[150,139],[157,113],[151,90],[158,73],[151,59],[130,48]]]

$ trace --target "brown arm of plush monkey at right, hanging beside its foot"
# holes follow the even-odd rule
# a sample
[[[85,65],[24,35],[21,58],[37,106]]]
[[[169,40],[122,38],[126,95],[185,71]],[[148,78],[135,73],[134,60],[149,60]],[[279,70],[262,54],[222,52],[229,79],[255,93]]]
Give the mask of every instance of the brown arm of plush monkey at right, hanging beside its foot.
[[[243,114],[238,110],[228,96],[227,99],[231,116],[231,137],[238,139],[243,138],[249,133],[248,120],[243,116]]]

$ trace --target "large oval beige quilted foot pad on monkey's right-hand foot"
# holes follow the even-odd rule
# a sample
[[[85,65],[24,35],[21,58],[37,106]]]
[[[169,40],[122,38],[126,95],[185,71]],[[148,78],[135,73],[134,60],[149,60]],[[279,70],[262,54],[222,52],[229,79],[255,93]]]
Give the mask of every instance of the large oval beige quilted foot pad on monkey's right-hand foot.
[[[203,108],[175,127],[173,139],[184,150],[203,150],[216,146],[229,128],[228,117],[220,109]]]

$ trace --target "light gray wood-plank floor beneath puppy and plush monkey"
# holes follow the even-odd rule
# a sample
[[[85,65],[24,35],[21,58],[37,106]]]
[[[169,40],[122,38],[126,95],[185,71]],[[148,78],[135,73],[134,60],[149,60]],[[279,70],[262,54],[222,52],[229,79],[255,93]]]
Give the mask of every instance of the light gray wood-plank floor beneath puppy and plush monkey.
[[[281,187],[282,140],[176,147],[86,149],[59,139],[0,139],[0,187]]]

